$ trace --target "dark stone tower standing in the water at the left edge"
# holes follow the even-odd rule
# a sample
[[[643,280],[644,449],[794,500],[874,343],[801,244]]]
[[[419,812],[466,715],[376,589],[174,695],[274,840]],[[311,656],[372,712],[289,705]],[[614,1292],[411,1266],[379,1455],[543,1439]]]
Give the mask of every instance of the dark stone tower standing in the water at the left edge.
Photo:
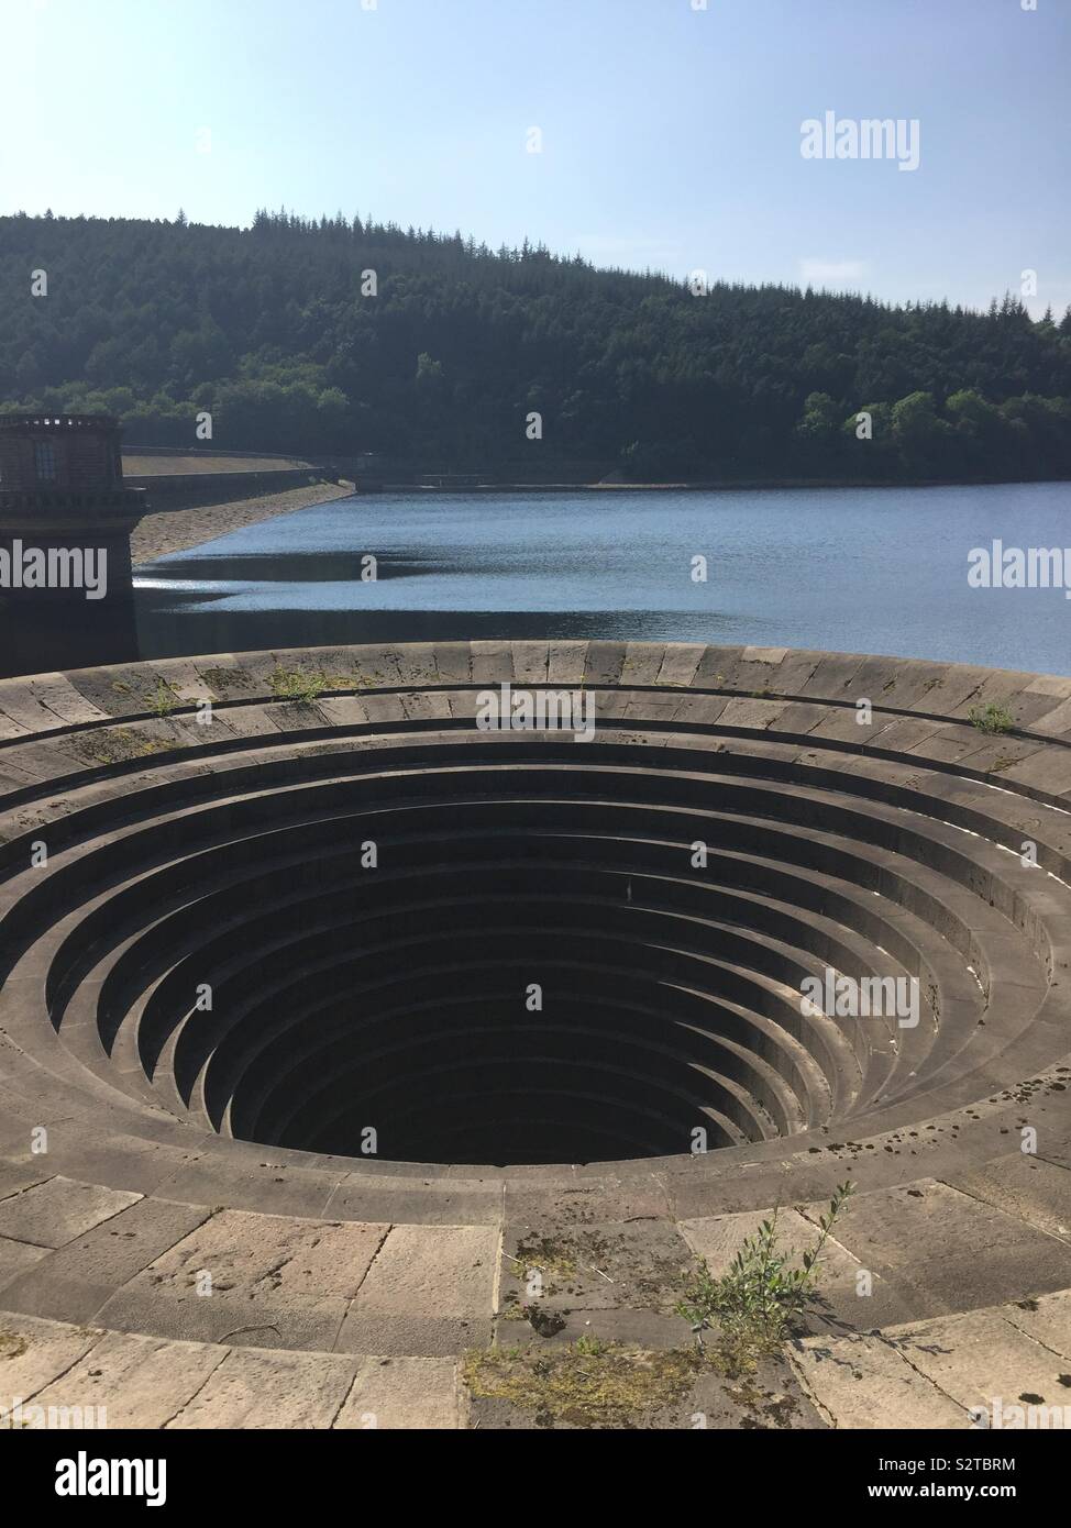
[[[138,657],[119,422],[0,416],[0,674]]]

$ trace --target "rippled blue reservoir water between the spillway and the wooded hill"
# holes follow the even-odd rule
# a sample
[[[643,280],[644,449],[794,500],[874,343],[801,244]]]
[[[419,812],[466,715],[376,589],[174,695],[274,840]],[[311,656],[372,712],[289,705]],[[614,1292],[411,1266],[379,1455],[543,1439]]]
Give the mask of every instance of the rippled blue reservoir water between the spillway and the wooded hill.
[[[139,568],[139,643],[573,636],[1071,674],[1062,587],[969,585],[996,539],[1066,547],[1071,581],[1071,484],[362,495]]]

